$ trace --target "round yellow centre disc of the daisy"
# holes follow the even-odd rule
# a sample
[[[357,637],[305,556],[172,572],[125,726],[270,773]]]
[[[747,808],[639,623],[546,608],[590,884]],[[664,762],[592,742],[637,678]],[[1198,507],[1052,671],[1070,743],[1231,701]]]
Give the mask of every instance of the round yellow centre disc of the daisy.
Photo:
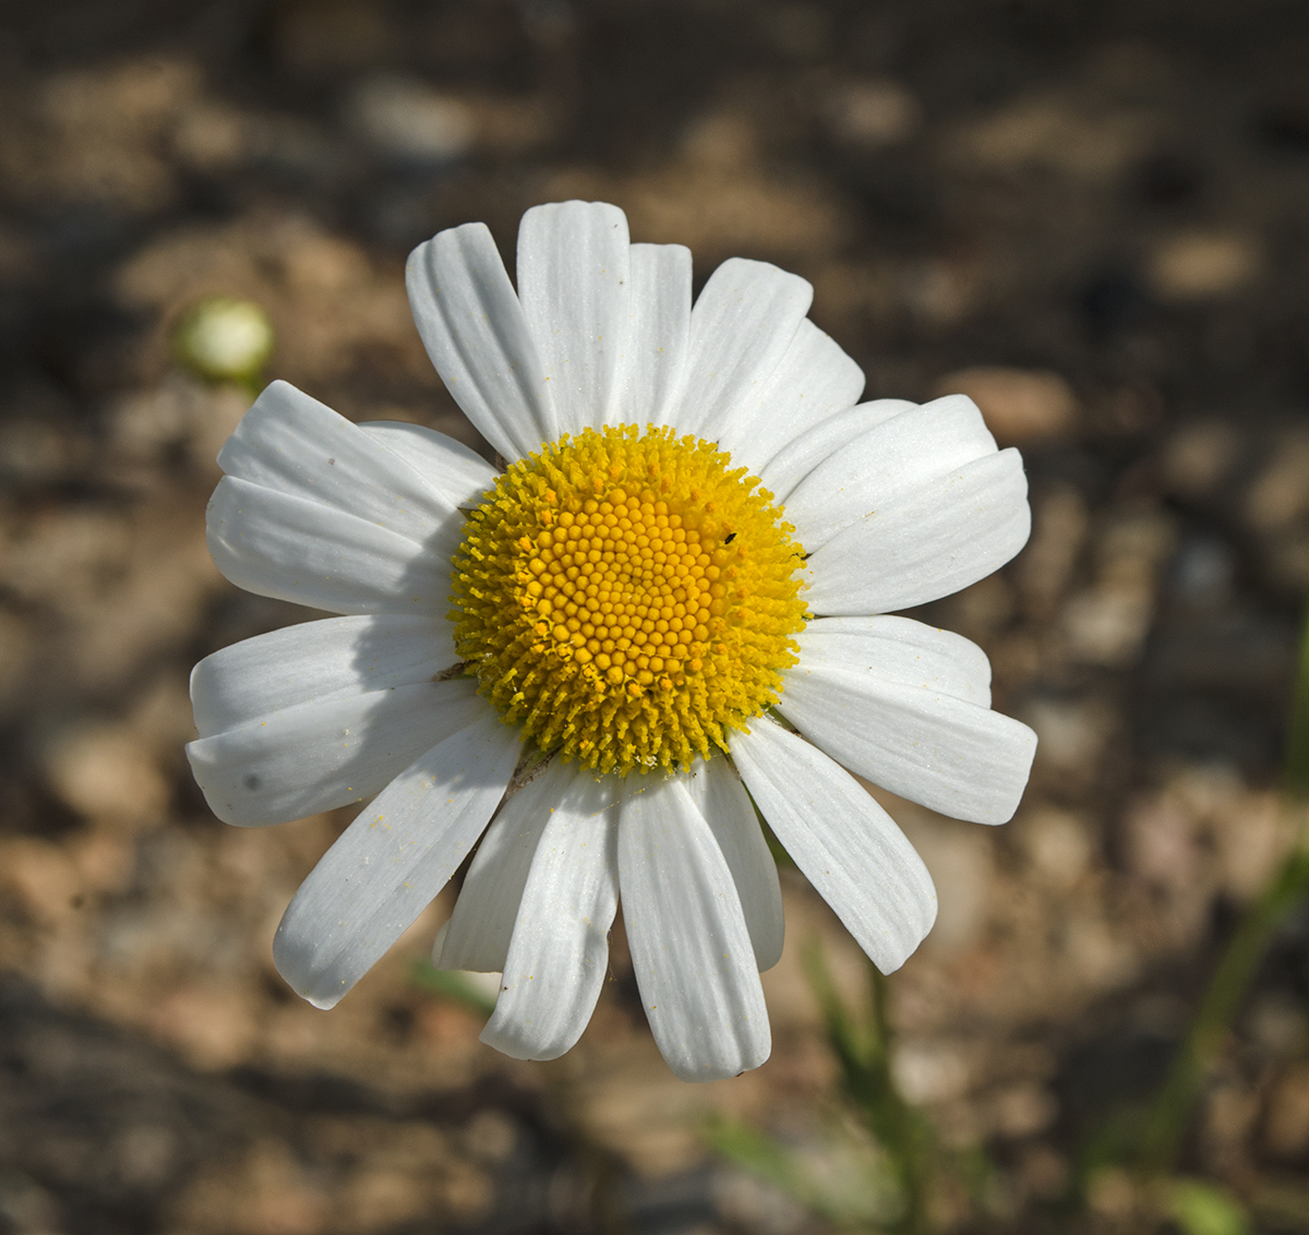
[[[588,428],[512,464],[470,515],[456,646],[541,750],[686,767],[778,702],[804,550],[729,465],[669,428]]]

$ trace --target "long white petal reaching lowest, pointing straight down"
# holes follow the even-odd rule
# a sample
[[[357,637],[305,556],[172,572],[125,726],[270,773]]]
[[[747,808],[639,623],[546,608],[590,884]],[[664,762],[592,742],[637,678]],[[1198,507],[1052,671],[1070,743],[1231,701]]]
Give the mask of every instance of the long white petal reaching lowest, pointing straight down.
[[[758,1067],[772,1048],[732,872],[681,777],[632,777],[618,829],[623,919],[651,1031],[683,1080]]]

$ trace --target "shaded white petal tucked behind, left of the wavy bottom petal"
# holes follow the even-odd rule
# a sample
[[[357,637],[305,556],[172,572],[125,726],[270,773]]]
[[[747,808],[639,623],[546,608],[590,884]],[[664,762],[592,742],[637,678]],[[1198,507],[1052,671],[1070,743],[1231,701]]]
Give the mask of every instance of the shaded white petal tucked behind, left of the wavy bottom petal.
[[[437,969],[504,969],[537,842],[568,781],[555,761],[500,809],[459,889],[445,946],[433,961]]]

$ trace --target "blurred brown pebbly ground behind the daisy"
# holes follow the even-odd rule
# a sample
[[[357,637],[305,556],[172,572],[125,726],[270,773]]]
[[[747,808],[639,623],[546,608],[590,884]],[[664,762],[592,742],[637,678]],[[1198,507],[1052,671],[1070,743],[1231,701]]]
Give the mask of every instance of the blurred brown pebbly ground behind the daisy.
[[[1005,828],[889,803],[941,902],[889,984],[890,1074],[954,1163],[933,1228],[1152,1228],[1086,1146],[1162,1080],[1293,842],[1309,9],[0,12],[0,1231],[894,1226],[802,953],[852,1003],[868,974],[797,872],[762,1069],[675,1080],[620,930],[583,1042],[521,1065],[478,1044],[476,989],[415,977],[449,893],[339,1008],[298,1001],[272,932],[348,812],[226,828],[186,770],[191,664],[310,616],[206,553],[213,456],[251,388],[179,359],[187,314],[253,303],[264,380],[484,449],[410,322],[406,253],[486,220],[512,254],[528,206],[572,196],[690,245],[698,286],[737,254],[802,274],[867,397],[963,390],[1024,449],[1028,549],[918,616],[990,652],[1041,749]],[[1183,1145],[1245,1209],[1219,1235],[1309,1228],[1306,989],[1301,912]],[[721,1152],[725,1128],[801,1163],[821,1204]]]

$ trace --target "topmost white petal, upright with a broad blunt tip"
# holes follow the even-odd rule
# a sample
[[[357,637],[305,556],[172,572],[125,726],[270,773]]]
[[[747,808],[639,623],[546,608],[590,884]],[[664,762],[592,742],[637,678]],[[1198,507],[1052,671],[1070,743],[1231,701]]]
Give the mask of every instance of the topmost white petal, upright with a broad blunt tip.
[[[631,313],[627,216],[605,202],[535,206],[518,225],[518,297],[558,430],[603,424],[619,402]]]

